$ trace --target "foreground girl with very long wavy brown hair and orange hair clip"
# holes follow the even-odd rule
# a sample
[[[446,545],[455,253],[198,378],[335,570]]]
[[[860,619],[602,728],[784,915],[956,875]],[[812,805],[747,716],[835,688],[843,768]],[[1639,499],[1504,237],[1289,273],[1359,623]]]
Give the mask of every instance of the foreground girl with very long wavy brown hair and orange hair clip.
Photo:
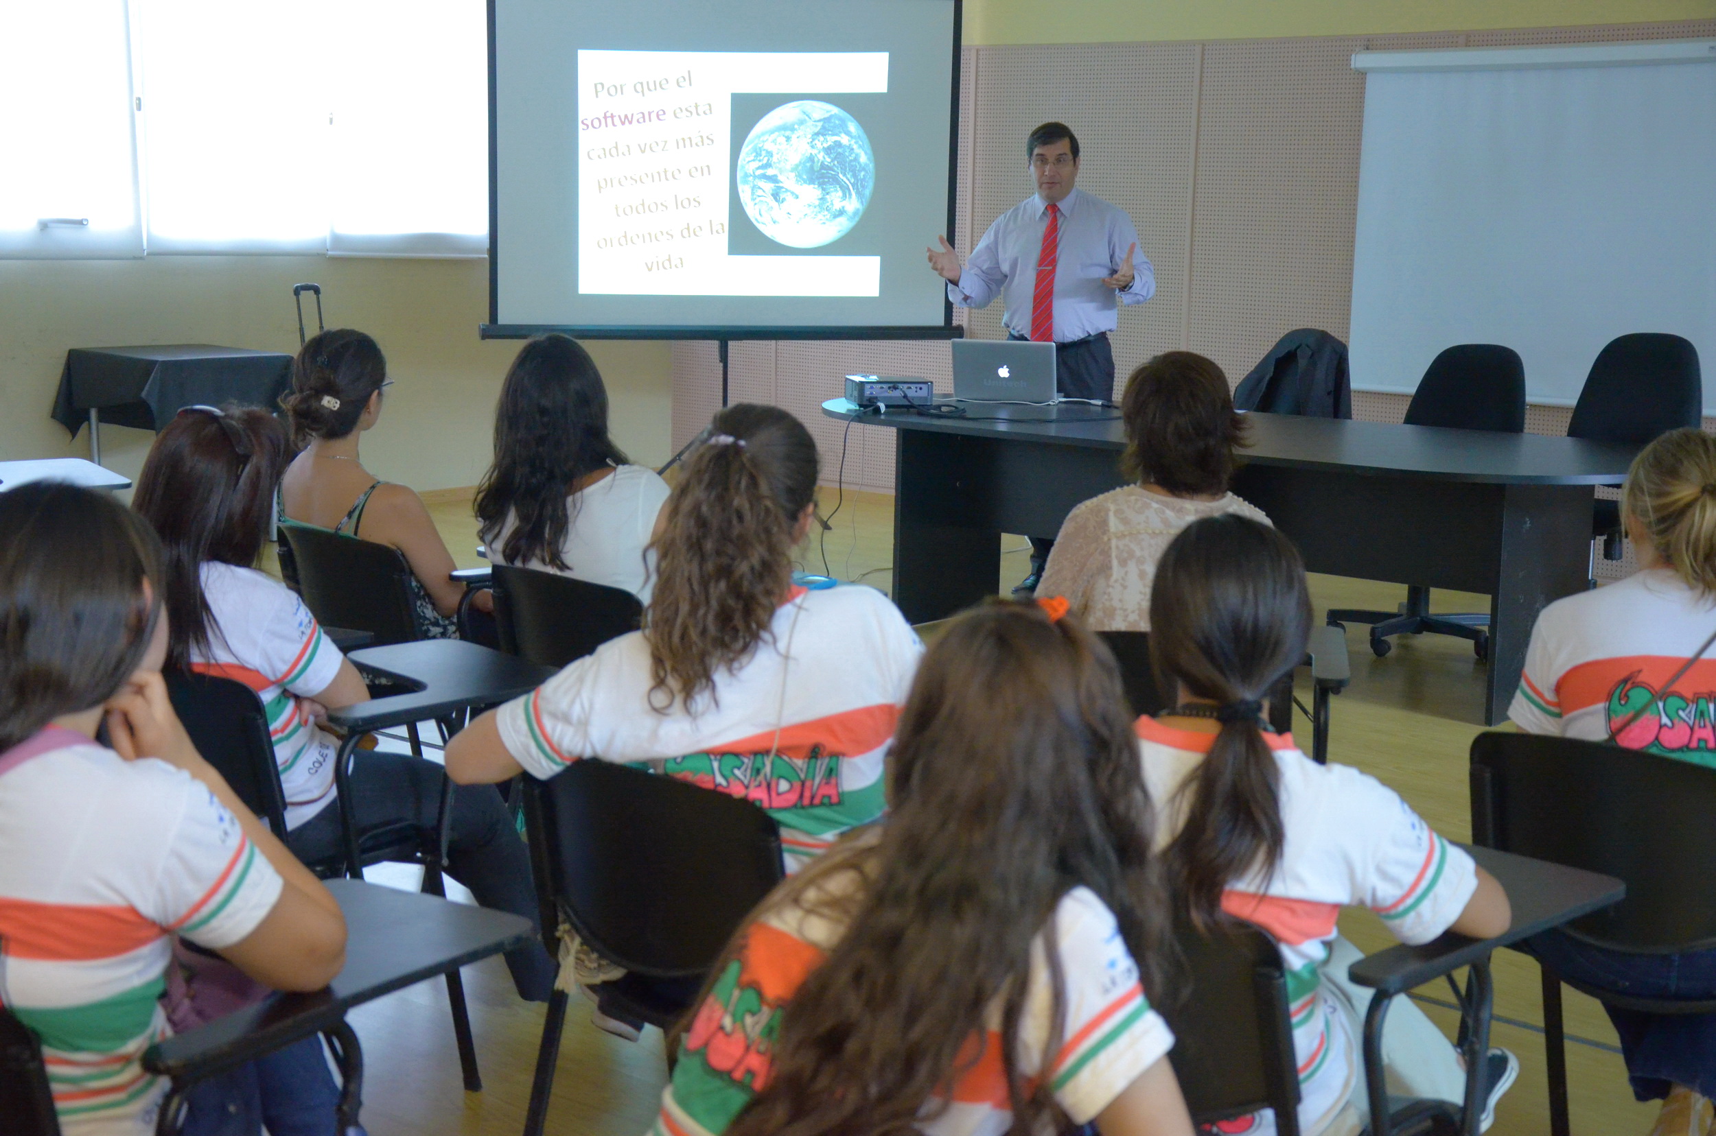
[[[734,935],[652,1136],[1191,1136],[1146,1000],[1167,899],[1127,717],[1072,619],[958,616],[901,712],[887,822]]]

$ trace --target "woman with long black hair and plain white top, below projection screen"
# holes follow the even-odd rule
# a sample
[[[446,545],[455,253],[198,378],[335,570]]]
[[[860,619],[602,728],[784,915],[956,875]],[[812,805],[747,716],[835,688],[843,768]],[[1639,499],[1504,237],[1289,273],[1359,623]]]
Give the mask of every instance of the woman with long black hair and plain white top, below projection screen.
[[[607,436],[595,360],[565,335],[525,343],[494,408],[494,465],[477,486],[489,559],[606,583],[649,604],[645,554],[668,482]]]

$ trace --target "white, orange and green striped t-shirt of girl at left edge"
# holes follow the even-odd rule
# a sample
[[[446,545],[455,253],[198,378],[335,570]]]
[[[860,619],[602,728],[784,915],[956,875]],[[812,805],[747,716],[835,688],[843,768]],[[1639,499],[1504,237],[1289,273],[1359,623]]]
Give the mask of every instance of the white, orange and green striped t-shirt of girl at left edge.
[[[184,770],[67,729],[24,746],[0,772],[0,1002],[41,1038],[65,1136],[144,1136],[166,1091],[139,1059],[168,1033],[170,935],[230,947],[281,880]]]

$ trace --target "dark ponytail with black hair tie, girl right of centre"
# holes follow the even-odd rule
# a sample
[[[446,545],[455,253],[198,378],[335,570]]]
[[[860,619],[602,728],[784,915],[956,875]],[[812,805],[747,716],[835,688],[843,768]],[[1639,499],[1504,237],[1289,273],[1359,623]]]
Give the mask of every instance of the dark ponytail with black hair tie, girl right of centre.
[[[1304,659],[1311,595],[1294,546],[1268,525],[1225,513],[1187,525],[1157,563],[1150,664],[1162,690],[1218,707],[1222,731],[1181,788],[1184,825],[1169,872],[1198,925],[1222,891],[1280,863],[1280,770],[1260,724],[1275,681]]]

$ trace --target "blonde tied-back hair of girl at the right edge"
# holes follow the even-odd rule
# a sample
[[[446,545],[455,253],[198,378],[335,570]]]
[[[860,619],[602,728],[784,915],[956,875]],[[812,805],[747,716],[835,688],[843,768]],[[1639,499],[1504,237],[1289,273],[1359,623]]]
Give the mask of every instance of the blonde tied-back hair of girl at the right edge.
[[[1653,441],[1627,470],[1620,508],[1687,587],[1716,595],[1716,438],[1683,427]]]

